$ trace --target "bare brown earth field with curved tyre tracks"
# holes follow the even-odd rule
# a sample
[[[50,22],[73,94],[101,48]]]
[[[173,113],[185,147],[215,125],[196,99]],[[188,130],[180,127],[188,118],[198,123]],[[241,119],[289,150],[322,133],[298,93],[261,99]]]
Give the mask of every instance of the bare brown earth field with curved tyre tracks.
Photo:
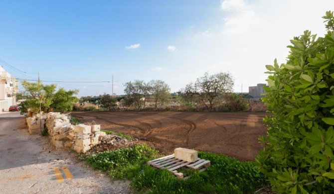
[[[122,132],[171,154],[177,147],[221,153],[252,161],[266,135],[264,112],[72,112],[81,123],[101,124],[101,129]]]

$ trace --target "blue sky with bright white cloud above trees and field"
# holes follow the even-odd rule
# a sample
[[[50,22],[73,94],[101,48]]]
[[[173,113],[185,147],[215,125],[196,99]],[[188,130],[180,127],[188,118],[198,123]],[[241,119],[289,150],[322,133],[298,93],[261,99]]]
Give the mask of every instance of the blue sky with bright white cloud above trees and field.
[[[247,93],[266,83],[265,65],[285,63],[294,36],[324,36],[330,8],[334,0],[1,0],[0,65],[78,96],[112,94],[112,76],[116,95],[134,80],[178,92],[205,72],[229,72],[234,92]]]

